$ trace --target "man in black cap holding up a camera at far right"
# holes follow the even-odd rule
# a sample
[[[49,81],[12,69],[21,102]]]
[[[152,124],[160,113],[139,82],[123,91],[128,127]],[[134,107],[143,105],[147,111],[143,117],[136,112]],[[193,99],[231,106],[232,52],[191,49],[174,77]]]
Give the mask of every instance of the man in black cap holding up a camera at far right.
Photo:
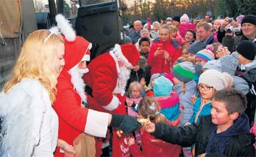
[[[227,22],[224,22],[224,24],[227,24]],[[244,16],[242,19],[241,26],[242,26],[242,32],[243,32],[242,35],[233,36],[233,32],[231,32],[231,33],[226,33],[226,36],[222,39],[222,45],[228,47],[230,52],[233,52],[235,50],[236,46],[241,42],[241,40],[253,41],[256,38],[256,16],[255,15]],[[235,27],[238,27],[238,26],[235,26]]]

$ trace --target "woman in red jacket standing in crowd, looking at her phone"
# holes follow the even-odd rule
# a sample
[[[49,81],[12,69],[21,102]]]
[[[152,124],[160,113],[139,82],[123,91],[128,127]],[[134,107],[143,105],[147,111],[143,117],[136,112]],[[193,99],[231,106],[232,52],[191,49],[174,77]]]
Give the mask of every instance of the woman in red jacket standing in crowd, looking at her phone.
[[[179,44],[170,38],[171,29],[164,24],[160,27],[160,38],[156,38],[148,53],[151,76],[154,73],[170,73],[172,64],[180,57]]]

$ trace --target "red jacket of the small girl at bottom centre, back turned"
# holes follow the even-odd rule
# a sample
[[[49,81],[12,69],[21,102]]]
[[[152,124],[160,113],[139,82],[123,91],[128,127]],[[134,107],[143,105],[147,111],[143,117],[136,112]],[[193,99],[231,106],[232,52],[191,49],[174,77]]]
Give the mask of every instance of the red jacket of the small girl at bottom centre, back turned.
[[[137,144],[129,147],[129,151],[133,156],[179,156],[181,146],[164,142],[156,139],[150,133],[142,133],[141,142],[142,151],[139,150]]]

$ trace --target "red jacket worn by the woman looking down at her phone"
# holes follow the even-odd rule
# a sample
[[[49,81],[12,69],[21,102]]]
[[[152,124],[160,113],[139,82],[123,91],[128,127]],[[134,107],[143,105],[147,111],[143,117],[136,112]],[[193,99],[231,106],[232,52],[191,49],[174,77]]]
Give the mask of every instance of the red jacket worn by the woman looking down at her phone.
[[[167,60],[167,64],[163,62],[163,55],[158,55],[155,57],[155,52],[158,49],[158,44],[163,44],[164,50],[170,55],[170,61]],[[171,73],[172,64],[180,57],[180,46],[179,42],[176,40],[168,39],[162,41],[156,38],[150,47],[148,52],[147,63],[151,67],[151,75],[154,73]]]

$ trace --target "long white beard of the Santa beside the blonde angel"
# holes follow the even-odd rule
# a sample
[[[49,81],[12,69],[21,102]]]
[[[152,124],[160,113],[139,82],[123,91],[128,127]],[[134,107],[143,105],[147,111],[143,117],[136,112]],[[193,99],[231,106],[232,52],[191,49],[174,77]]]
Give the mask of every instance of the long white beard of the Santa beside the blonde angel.
[[[86,68],[86,69],[79,69],[79,68],[73,69],[72,68],[70,70],[71,82],[74,86],[74,89],[79,94],[82,101],[84,101],[84,102],[87,102],[87,99],[86,99],[85,92],[84,92],[85,83],[84,83],[84,80],[82,80],[82,76],[84,75],[84,73],[86,73],[88,71],[89,71],[88,68]]]

